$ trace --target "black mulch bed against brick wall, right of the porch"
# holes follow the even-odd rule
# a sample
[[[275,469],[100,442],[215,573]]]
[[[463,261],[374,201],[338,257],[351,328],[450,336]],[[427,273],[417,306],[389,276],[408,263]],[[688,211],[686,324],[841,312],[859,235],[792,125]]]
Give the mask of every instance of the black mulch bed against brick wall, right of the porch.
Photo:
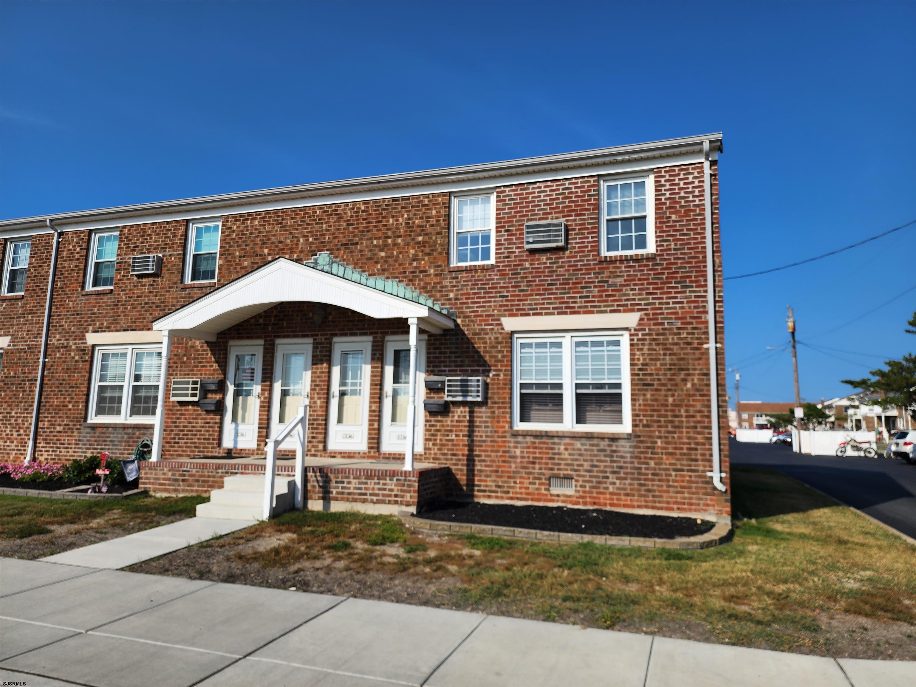
[[[463,522],[506,528],[542,529],[547,532],[652,537],[692,537],[713,529],[709,520],[621,513],[601,508],[509,506],[507,504],[447,501],[417,514],[441,522]]]

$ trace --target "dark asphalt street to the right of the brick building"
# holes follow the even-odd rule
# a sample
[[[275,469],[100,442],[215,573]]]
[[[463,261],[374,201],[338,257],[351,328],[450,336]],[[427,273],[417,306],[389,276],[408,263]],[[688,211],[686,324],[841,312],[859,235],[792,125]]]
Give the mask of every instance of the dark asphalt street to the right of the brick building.
[[[916,538],[916,465],[878,458],[792,453],[786,446],[729,441],[734,465],[765,465]]]

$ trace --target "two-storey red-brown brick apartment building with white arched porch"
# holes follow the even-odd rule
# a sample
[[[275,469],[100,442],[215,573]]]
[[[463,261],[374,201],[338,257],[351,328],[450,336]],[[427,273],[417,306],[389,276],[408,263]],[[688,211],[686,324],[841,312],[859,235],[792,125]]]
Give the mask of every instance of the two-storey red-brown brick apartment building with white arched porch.
[[[159,401],[162,460],[141,481],[206,492],[263,470],[253,459],[306,389],[310,489],[378,462],[345,473],[348,502],[728,514],[709,476],[713,417],[728,473],[720,151],[720,135],[695,136],[0,222],[0,460],[29,451],[53,224],[38,460],[125,457],[153,438]],[[161,267],[132,276],[132,256]],[[409,322],[424,333],[421,463],[401,470]],[[438,376],[484,377],[485,397],[424,411],[444,398]],[[173,399],[187,379],[216,384]]]

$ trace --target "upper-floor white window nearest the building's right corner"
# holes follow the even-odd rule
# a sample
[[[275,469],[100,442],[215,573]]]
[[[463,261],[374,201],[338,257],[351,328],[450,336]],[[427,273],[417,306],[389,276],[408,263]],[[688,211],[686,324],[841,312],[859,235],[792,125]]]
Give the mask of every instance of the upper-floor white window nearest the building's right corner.
[[[653,176],[601,182],[601,255],[655,251]]]

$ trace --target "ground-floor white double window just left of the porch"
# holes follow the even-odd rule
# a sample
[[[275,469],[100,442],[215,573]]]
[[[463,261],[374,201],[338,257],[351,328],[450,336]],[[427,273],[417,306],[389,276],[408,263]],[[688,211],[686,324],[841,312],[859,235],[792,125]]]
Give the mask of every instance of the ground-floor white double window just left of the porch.
[[[96,346],[89,421],[153,424],[161,371],[161,345]]]

